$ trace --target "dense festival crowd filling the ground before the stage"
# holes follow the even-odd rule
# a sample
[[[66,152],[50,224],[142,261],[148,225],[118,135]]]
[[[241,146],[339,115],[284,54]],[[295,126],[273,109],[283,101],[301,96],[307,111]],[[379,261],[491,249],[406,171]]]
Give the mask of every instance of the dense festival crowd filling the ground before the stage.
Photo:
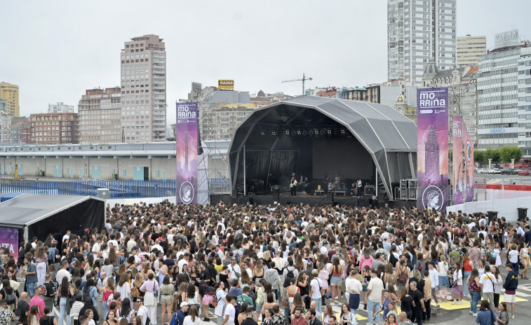
[[[34,237],[18,260],[0,249],[0,325],[199,325],[212,314],[220,325],[356,325],[360,308],[370,325],[422,325],[431,300],[466,296],[478,324],[508,324],[530,265],[527,221],[387,205],[107,206],[102,229]]]

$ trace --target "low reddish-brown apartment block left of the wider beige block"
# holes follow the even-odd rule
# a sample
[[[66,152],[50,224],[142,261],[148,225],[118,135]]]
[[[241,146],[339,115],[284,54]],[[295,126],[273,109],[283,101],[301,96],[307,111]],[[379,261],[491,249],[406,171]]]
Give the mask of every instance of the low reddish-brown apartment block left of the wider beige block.
[[[30,114],[31,142],[37,145],[62,145],[79,142],[77,113]]]

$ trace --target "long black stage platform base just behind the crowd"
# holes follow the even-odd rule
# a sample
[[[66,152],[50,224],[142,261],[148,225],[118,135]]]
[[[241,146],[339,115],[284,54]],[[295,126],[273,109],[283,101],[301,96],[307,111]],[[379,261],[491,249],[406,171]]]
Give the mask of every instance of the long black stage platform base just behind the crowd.
[[[328,194],[326,195],[304,195],[302,192],[297,193],[297,197],[290,197],[290,194],[288,192],[282,192],[280,194],[274,194],[274,195],[247,195],[247,196],[238,196],[238,197],[232,197],[229,194],[212,194],[210,195],[210,204],[218,204],[220,201],[224,201],[225,203],[230,202],[231,204],[247,204],[247,202],[250,202],[250,204],[261,204],[261,205],[269,205],[280,203],[280,204],[308,204],[309,206],[325,206],[330,204],[339,204],[340,206],[374,206],[376,204],[377,207],[382,207],[384,204],[389,204],[390,208],[401,208],[402,206],[405,206],[406,208],[410,208],[410,206],[416,206],[417,201],[402,201],[402,200],[396,200],[396,201],[372,201],[371,197],[342,197],[342,196],[333,196]]]

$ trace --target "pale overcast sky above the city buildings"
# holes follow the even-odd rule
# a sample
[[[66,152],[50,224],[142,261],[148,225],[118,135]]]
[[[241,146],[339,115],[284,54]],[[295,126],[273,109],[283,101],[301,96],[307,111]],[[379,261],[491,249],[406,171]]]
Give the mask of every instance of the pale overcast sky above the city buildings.
[[[520,29],[531,1],[457,0],[457,36]],[[20,114],[74,105],[85,90],[119,86],[123,42],[166,42],[168,124],[191,81],[300,95],[316,86],[387,81],[387,1],[3,1],[0,81],[20,86]]]

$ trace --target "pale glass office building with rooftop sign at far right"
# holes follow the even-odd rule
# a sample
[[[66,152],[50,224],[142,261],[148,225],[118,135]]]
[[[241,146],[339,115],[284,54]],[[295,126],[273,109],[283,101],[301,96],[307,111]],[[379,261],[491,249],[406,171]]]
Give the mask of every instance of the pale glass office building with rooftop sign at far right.
[[[529,52],[529,43],[521,42],[518,30],[514,30],[496,34],[495,48],[480,57],[477,78],[479,150],[517,146],[521,141],[524,155],[528,157],[531,153],[531,145],[527,147],[525,140],[527,131],[531,131],[525,114],[527,97],[519,93],[520,89],[527,90],[525,58]],[[519,66],[519,62],[524,65]],[[529,72],[528,67],[527,74]],[[519,81],[523,84],[518,84]],[[519,110],[518,106],[522,108]]]

